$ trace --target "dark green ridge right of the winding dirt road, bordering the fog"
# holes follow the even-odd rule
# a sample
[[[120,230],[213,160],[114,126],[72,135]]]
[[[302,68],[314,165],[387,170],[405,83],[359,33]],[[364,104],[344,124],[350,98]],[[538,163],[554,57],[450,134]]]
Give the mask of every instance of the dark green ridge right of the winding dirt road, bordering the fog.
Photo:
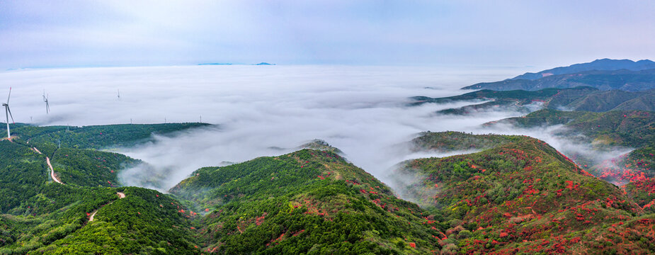
[[[101,125],[86,127],[36,127],[17,124],[12,129],[13,142],[23,151],[38,149],[50,157],[55,176],[74,186],[117,186],[121,170],[141,164],[123,154],[98,149],[130,147],[152,141],[154,134],[171,135],[191,128],[209,128],[204,123],[167,123],[152,125]],[[43,165],[44,171],[47,166]],[[47,173],[45,174],[47,177]]]

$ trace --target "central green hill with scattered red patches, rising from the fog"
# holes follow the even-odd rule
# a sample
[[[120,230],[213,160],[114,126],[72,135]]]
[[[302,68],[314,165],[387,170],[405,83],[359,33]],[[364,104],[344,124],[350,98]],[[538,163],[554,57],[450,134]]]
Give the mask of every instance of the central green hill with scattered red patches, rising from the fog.
[[[443,225],[334,152],[199,169],[171,190],[207,210],[219,254],[432,254]]]

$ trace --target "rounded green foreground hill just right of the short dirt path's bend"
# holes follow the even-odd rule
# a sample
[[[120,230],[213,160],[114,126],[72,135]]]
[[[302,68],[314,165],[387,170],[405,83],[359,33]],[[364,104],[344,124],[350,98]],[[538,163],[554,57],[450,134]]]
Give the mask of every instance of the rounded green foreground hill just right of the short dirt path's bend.
[[[93,222],[40,250],[47,254],[198,254],[190,218],[176,200],[145,188],[98,210]],[[115,195],[114,195],[115,196]]]

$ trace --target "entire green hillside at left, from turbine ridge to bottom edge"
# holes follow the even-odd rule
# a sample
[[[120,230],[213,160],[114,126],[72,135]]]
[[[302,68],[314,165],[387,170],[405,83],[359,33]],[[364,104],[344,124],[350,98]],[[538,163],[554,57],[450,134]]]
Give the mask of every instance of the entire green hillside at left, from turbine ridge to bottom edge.
[[[0,254],[198,254],[186,208],[144,188],[105,188],[138,161],[96,150],[195,126],[12,124],[11,141],[0,140]]]

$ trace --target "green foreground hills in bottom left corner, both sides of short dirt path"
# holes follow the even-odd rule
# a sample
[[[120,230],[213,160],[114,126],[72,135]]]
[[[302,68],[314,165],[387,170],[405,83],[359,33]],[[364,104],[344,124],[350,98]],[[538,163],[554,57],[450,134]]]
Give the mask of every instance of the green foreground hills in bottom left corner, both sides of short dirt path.
[[[0,215],[0,254],[198,254],[188,214],[156,191],[50,183],[24,204]]]

